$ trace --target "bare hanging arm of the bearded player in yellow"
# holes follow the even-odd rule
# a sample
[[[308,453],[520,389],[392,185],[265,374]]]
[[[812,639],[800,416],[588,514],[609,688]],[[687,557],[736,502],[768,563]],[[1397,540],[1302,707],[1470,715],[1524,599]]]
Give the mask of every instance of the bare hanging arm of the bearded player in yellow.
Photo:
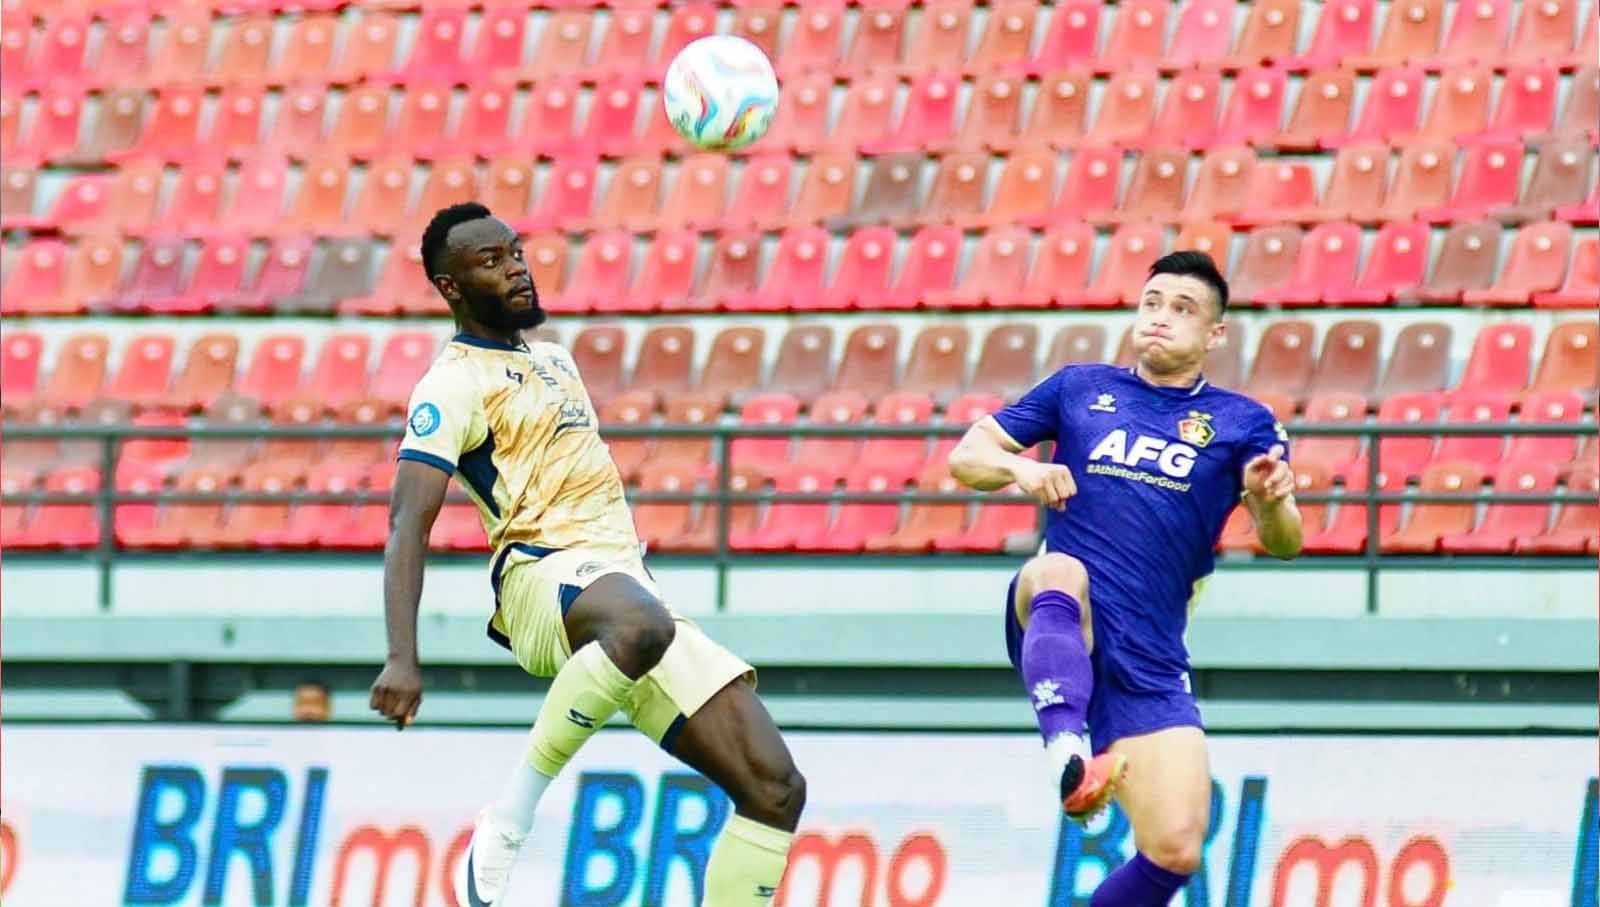
[[[389,499],[389,542],[384,545],[384,627],[389,657],[373,683],[371,707],[405,729],[422,704],[422,664],[416,651],[416,609],[422,600],[427,536],[445,502],[450,475],[402,459]]]

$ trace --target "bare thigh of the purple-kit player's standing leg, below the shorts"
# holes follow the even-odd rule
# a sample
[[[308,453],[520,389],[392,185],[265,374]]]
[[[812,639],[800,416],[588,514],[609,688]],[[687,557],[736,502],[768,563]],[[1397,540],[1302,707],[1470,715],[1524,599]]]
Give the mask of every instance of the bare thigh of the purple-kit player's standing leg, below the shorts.
[[[1122,737],[1110,752],[1128,758],[1128,774],[1117,790],[1134,845],[1157,864],[1192,872],[1200,859],[1211,814],[1211,763],[1205,731],[1163,728]]]

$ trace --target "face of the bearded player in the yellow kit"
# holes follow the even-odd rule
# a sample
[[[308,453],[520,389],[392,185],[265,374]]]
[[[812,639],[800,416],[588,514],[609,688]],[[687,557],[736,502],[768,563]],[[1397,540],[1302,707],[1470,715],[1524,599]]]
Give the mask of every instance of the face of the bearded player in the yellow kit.
[[[438,290],[474,322],[502,333],[544,323],[539,291],[522,258],[522,237],[502,221],[483,218],[456,226],[446,254]]]

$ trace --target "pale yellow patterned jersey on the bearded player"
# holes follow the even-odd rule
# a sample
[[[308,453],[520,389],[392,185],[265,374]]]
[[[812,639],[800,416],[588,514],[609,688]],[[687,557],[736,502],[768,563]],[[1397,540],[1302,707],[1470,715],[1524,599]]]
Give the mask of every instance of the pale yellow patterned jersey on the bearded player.
[[[571,355],[456,334],[411,392],[400,459],[453,473],[501,553],[638,557],[622,477]]]

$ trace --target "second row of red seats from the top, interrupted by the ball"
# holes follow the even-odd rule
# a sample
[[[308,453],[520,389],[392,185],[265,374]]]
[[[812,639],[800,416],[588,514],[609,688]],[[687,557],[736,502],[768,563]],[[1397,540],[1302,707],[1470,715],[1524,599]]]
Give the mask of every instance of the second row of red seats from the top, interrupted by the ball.
[[[971,83],[965,101],[962,78],[936,72],[910,82],[896,115],[898,78],[862,77],[835,88],[832,74],[816,74],[787,85],[771,131],[749,154],[1234,144],[1304,150],[1371,141],[1592,139],[1600,109],[1597,78],[1592,64],[1570,77],[1558,110],[1563,78],[1552,66],[1518,66],[1504,77],[1483,66],[1454,67],[1438,77],[1424,115],[1429,77],[1418,67],[1387,69],[1371,78],[1328,69],[1293,80],[1285,69],[1258,67],[1226,82],[1216,72],[1187,72],[1163,82],[1154,69],[1133,67],[1102,90],[1086,70],[1053,74],[1037,83],[994,74]],[[1294,85],[1298,94],[1290,104]],[[1366,101],[1357,110],[1362,85]],[[1101,98],[1091,115],[1096,90]],[[1034,101],[1024,114],[1029,91]],[[275,104],[269,104],[274,98]],[[266,114],[274,107],[277,114],[269,120]],[[584,107],[589,112],[579,122]],[[406,90],[373,83],[338,91],[294,85],[282,91],[235,86],[211,94],[186,86],[149,94],[123,83],[98,94],[56,85],[32,102],[13,91],[0,96],[0,154],[19,162],[187,162],[240,157],[259,147],[363,158],[384,152],[488,158],[504,152],[622,157],[690,150],[661,114],[654,90],[630,78],[602,80],[587,90],[576,75],[562,77],[526,93],[474,82],[462,93],[448,83]]]

